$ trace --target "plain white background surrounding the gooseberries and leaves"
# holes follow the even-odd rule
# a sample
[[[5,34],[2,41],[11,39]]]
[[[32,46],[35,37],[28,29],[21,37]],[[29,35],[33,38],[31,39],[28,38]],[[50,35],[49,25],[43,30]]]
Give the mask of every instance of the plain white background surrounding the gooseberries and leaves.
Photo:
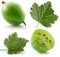
[[[8,37],[9,34],[13,32],[17,32],[19,37],[24,37],[29,40],[26,47],[24,48],[25,51],[19,54],[13,54],[9,55],[7,51],[0,51],[0,57],[59,57],[60,56],[60,1],[59,0],[4,0],[5,2],[17,2],[19,3],[24,11],[25,11],[25,22],[27,26],[25,27],[23,24],[21,24],[18,27],[11,26],[9,23],[7,23],[2,14],[1,14],[1,8],[2,8],[2,0],[0,0],[0,49],[7,49],[4,45],[4,39]],[[55,14],[59,16],[58,20],[55,22],[55,24],[52,25],[50,28],[46,28],[39,24],[37,28],[41,28],[44,30],[47,30],[50,32],[54,39],[55,39],[55,46],[53,49],[49,50],[47,53],[38,53],[35,51],[31,46],[31,36],[35,29],[35,26],[37,22],[33,20],[33,18],[30,15],[30,7],[34,2],[38,3],[39,5],[51,1],[52,8],[55,11]]]

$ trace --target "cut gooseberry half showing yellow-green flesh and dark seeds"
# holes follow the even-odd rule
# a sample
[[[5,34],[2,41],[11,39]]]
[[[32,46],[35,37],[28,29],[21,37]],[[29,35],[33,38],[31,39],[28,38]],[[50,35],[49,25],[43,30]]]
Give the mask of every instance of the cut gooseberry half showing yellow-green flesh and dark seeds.
[[[55,41],[52,35],[43,29],[37,29],[33,32],[31,38],[32,47],[40,53],[45,53],[54,47]]]

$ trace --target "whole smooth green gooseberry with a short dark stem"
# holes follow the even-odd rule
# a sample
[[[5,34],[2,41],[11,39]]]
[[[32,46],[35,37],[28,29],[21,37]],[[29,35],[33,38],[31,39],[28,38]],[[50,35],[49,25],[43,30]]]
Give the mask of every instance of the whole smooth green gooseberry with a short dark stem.
[[[25,13],[23,12],[21,6],[17,3],[5,3],[2,7],[2,15],[4,19],[13,26],[18,26],[21,23],[25,24]]]

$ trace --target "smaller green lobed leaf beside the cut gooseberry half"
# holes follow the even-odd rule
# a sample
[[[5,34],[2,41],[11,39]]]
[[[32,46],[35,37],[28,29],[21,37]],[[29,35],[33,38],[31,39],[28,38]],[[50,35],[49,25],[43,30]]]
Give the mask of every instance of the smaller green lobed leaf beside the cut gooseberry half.
[[[25,38],[17,37],[17,33],[12,33],[4,40],[5,46],[8,48],[9,54],[16,54],[24,51],[24,47],[28,40]]]

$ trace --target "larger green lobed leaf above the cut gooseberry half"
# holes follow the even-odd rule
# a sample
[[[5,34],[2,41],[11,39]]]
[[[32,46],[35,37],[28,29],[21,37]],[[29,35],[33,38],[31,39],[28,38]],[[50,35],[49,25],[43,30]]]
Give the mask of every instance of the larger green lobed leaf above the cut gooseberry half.
[[[41,6],[34,3],[31,7],[31,16],[33,19],[41,23],[45,27],[51,27],[51,24],[55,23],[58,16],[54,14],[51,2],[48,1]]]

